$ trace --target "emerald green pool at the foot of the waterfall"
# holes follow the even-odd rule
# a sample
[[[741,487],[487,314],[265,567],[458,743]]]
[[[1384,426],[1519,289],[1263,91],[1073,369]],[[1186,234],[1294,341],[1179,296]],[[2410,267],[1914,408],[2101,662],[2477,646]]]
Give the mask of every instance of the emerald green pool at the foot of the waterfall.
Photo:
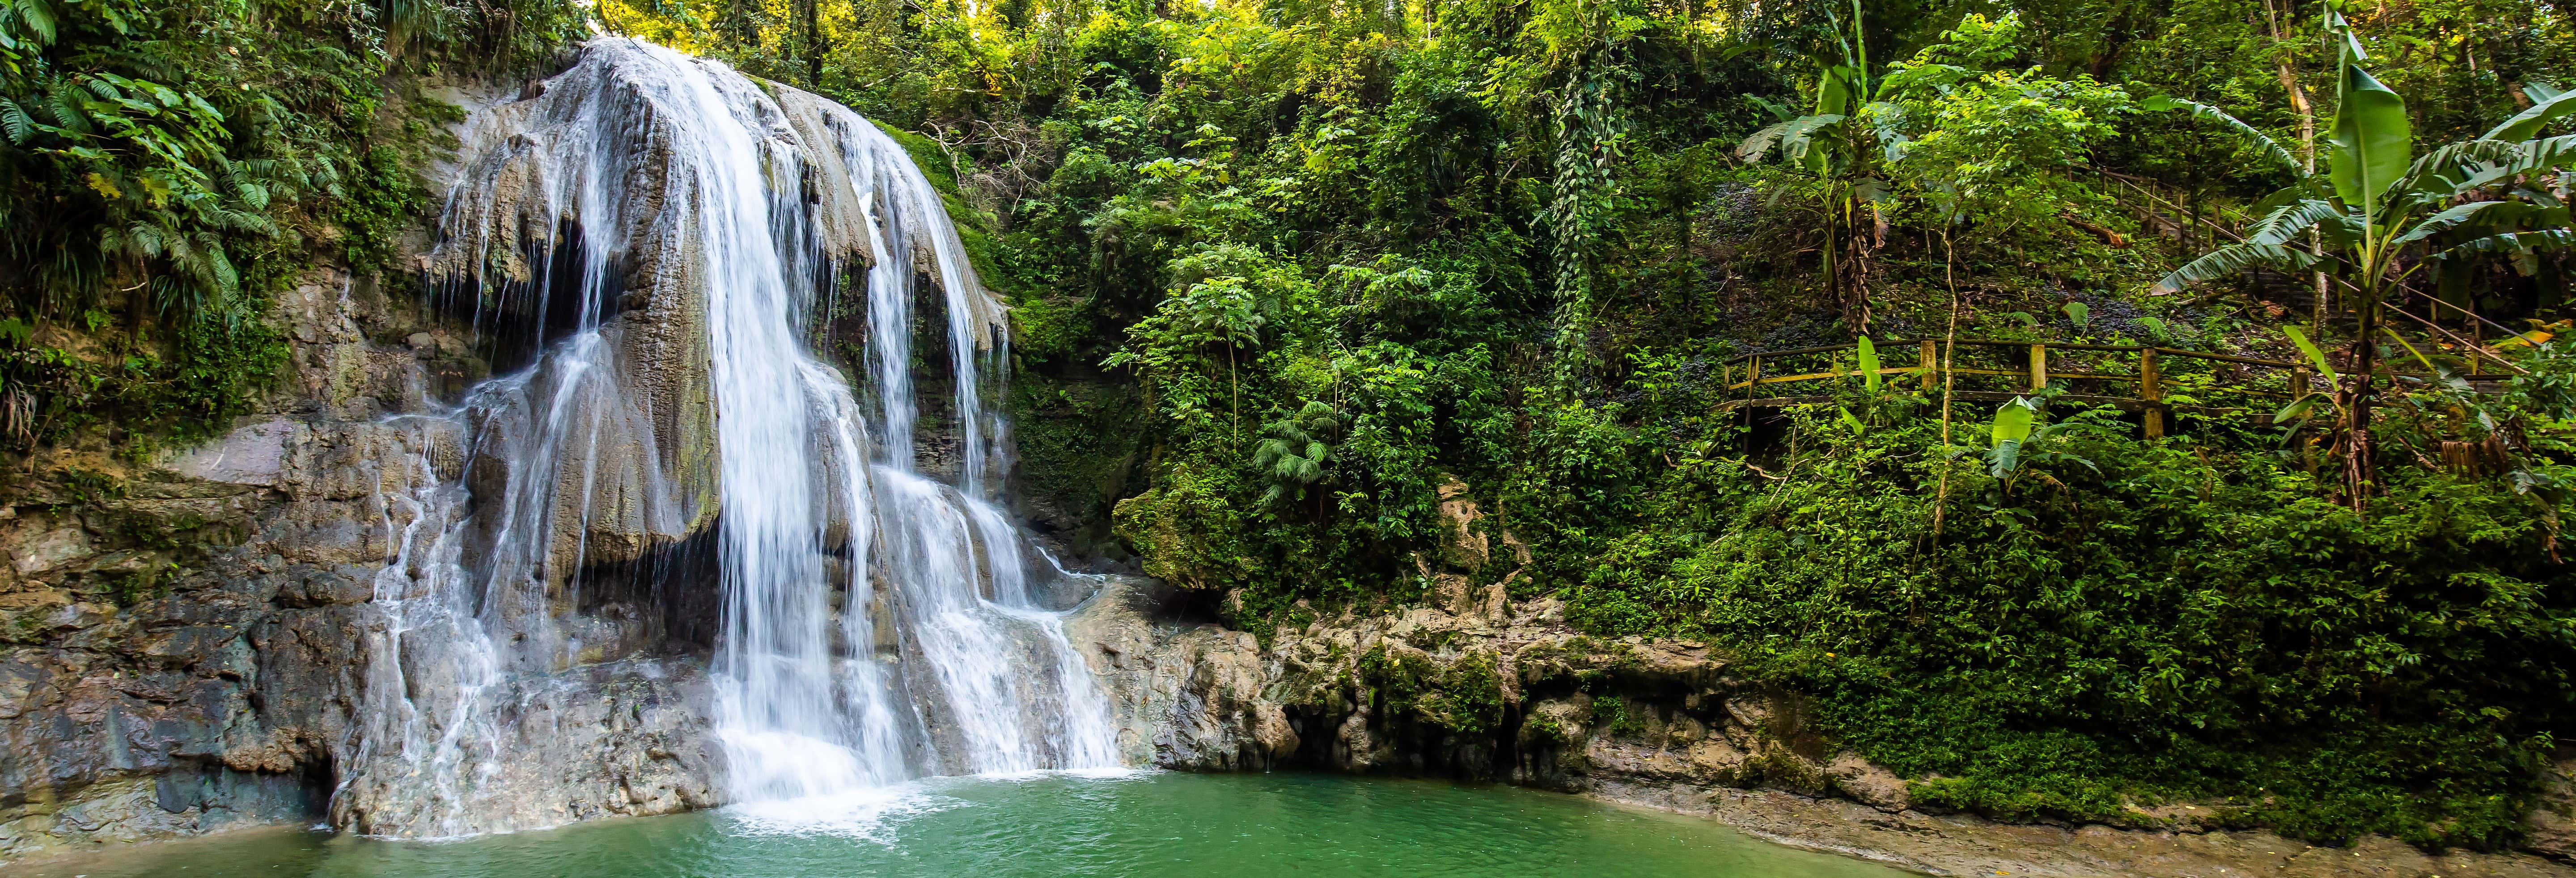
[[[1765,875],[1899,870],[1502,785],[1332,775],[935,780],[902,796],[464,842],[252,832],[26,865],[88,878]]]

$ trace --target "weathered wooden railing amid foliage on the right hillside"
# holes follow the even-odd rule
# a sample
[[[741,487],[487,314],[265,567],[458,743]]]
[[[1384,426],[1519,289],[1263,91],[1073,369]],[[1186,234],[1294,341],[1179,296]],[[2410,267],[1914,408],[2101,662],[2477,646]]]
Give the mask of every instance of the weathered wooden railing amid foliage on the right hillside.
[[[2166,430],[2166,422],[2164,422],[2164,417],[2166,417],[2166,404],[2164,404],[2164,368],[2161,368],[2159,360],[2166,360],[2166,358],[2192,358],[2192,360],[2213,360],[2213,363],[2228,363],[2228,366],[2259,366],[2259,368],[2287,371],[2290,373],[2290,389],[2287,389],[2287,394],[2244,386],[2244,391],[2249,391],[2249,394],[2264,394],[2264,397],[2298,399],[2298,397],[2308,394],[2308,381],[2311,381],[2306,363],[2264,360],[2264,358],[2239,358],[2239,355],[2226,355],[2226,353],[2202,353],[2202,350],[2156,348],[2156,345],[2004,342],[2004,340],[1971,340],[1971,337],[1955,340],[1950,350],[1942,350],[1942,340],[1937,340],[1937,337],[1888,340],[1888,342],[1873,342],[1873,345],[1878,348],[1878,355],[1880,355],[1880,368],[1878,368],[1880,376],[1919,376],[1924,391],[1937,391],[1945,384],[1945,376],[2004,376],[2004,378],[2017,378],[2014,384],[2025,384],[2027,391],[2038,391],[2038,389],[2048,386],[2048,381],[2053,381],[2053,378],[2136,384],[2138,386],[2136,397],[2099,397],[2099,394],[2094,394],[2094,397],[2071,397],[2071,399],[2079,399],[2079,402],[2107,402],[2107,404],[2120,404],[2120,407],[2128,407],[2128,409],[2138,409],[2143,415],[2141,420],[2146,425],[2146,435],[2148,438],[2164,435],[2164,430]],[[1808,355],[1819,355],[1819,353],[1832,355],[1832,353],[1855,350],[1855,348],[1860,348],[1860,345],[1857,342],[1847,342],[1847,345],[1824,345],[1824,348],[1765,350],[1765,353],[1744,353],[1744,355],[1726,358],[1726,360],[1718,363],[1718,371],[1721,371],[1718,381],[1726,381],[1728,391],[1744,391],[1744,399],[1728,399],[1726,407],[1790,404],[1790,402],[1803,402],[1806,399],[1806,397],[1759,397],[1759,386],[1765,386],[1765,384],[1798,384],[1798,381],[1821,381],[1821,378],[1852,378],[1852,376],[1860,376],[1862,371],[1857,368],[1857,363],[1852,368],[1839,368],[1839,371],[1806,371],[1806,373],[1785,373],[1785,376],[1767,376],[1765,373],[1765,363],[1770,363],[1770,366],[1777,368],[1777,363],[1783,363],[1783,360],[1808,358]],[[1888,358],[1904,355],[1901,350],[1906,350],[1906,348],[1917,350],[1917,360],[1919,360],[1917,366],[1886,366]],[[2027,360],[2025,360],[2027,366],[2022,366],[2022,368],[1958,366],[1958,348],[1989,348],[1989,350],[1991,348],[2004,348],[2004,350],[2027,355]],[[2125,353],[2125,355],[2136,355],[2136,371],[2130,371],[2130,373],[2050,371],[2050,366],[2048,366],[2048,353],[2050,350],[2061,350],[2061,353],[2112,353],[2112,355],[2123,355]],[[1942,368],[1945,363],[1947,363],[1947,368]],[[1739,368],[1741,368],[1741,378],[1736,373]],[[2009,397],[2009,394],[1965,391],[1965,394],[1955,394],[1955,397],[1960,397],[1960,399],[1984,399],[1984,397]]]

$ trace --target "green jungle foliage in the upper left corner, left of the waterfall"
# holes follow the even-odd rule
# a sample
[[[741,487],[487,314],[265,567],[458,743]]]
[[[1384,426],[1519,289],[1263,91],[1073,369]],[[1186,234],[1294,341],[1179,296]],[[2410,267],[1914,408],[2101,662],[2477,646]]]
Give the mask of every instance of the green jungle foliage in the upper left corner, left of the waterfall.
[[[417,221],[410,82],[582,26],[564,0],[0,3],[0,443],[224,427],[283,363],[268,296],[322,257],[381,270]]]

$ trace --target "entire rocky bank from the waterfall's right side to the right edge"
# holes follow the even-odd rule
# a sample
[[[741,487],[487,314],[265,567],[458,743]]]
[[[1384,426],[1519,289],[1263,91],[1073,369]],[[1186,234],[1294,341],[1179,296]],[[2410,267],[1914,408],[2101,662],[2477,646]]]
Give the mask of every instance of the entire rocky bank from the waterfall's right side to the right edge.
[[[2522,852],[2442,852],[2370,837],[2313,847],[2136,811],[2130,827],[1924,814],[1906,783],[1806,734],[1795,698],[1759,693],[1692,644],[1592,641],[1553,602],[1332,618],[1252,633],[1195,623],[1154,579],[1121,577],[1074,613],[1133,762],[1499,780],[1695,814],[1754,837],[1927,875],[2576,875],[2555,814]],[[1476,693],[1388,698],[1388,687]]]

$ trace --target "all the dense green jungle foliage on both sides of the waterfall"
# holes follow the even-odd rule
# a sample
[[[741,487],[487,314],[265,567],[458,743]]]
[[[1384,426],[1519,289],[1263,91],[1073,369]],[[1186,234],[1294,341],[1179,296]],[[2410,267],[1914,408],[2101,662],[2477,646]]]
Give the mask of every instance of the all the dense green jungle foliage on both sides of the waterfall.
[[[1255,633],[1471,577],[1929,806],[2311,839],[2509,845],[2576,721],[2550,0],[10,0],[10,443],[222,427],[263,288],[417,219],[417,80],[585,26],[894,129],[1012,301],[1038,505]],[[2146,435],[1950,345],[1728,407],[1855,340],[2316,384],[2177,355]]]

